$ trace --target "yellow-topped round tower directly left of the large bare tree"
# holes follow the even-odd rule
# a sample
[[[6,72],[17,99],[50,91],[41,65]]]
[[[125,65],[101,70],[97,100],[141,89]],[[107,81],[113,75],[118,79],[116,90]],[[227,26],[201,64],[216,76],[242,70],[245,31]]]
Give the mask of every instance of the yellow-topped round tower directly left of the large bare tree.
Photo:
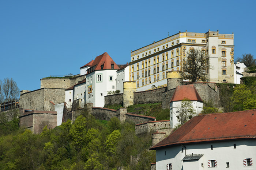
[[[167,90],[181,86],[183,82],[181,71],[169,71],[167,72]]]

